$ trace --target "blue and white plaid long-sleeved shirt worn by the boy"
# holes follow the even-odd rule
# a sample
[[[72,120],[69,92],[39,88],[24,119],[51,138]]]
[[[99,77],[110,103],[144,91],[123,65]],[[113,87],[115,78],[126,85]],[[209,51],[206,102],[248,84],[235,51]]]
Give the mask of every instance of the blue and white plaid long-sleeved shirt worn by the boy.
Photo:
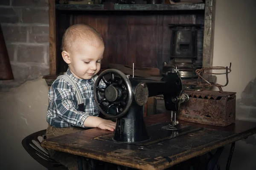
[[[88,116],[99,116],[99,109],[94,100],[94,84],[97,79],[78,79],[67,69],[69,75],[81,92],[84,102],[84,112],[79,111],[76,93],[73,87],[64,79],[56,79],[49,89],[49,107],[47,110],[47,122],[54,127],[84,127],[84,121]],[[99,84],[104,87],[103,81]]]

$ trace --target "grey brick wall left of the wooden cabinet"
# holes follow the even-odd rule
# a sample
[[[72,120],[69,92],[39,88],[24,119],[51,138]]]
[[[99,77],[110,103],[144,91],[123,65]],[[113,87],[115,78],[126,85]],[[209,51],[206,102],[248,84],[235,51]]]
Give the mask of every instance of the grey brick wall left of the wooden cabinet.
[[[0,0],[0,23],[15,77],[0,88],[49,74],[48,0]]]

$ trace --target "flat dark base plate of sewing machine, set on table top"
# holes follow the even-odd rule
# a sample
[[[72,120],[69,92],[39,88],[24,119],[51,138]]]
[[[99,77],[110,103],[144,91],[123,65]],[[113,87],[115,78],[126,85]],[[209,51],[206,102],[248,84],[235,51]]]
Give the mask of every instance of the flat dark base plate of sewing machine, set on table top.
[[[176,138],[178,136],[182,136],[188,133],[192,133],[198,130],[202,130],[203,127],[192,127],[188,125],[180,125],[179,129],[177,130],[171,130],[171,129],[166,129],[167,126],[169,126],[171,122],[163,122],[163,123],[158,123],[154,125],[147,126],[147,131],[148,131],[148,136],[150,136],[150,139],[142,142],[129,142],[127,144],[132,144],[136,146],[148,146],[150,144],[154,144],[157,142],[161,142],[164,140]],[[113,133],[108,133],[106,135],[102,136],[97,136],[93,139],[95,140],[102,140],[102,141],[112,141],[112,142],[117,142],[113,140],[114,132]],[[125,142],[122,142],[125,143]]]

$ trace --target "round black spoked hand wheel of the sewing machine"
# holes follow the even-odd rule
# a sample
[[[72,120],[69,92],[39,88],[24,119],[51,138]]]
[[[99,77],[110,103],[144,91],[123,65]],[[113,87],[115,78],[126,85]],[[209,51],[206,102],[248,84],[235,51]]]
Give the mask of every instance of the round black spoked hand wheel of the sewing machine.
[[[99,87],[100,82],[105,87]],[[94,99],[99,110],[110,118],[120,118],[128,112],[132,102],[131,82],[121,71],[108,69],[99,74],[94,86]]]

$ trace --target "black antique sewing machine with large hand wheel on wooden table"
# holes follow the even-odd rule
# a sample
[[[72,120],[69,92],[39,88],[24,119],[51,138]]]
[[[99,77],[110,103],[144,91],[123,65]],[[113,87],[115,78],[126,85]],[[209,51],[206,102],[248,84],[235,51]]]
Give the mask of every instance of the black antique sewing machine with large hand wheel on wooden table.
[[[105,87],[100,87],[100,82]],[[117,118],[116,130],[94,139],[145,146],[201,130],[180,125],[176,120],[180,104],[189,100],[182,88],[180,74],[175,70],[160,81],[125,75],[116,69],[103,71],[95,82],[94,97],[102,114]],[[143,105],[148,97],[160,94],[164,96],[166,110],[171,111],[170,121],[145,126]]]

